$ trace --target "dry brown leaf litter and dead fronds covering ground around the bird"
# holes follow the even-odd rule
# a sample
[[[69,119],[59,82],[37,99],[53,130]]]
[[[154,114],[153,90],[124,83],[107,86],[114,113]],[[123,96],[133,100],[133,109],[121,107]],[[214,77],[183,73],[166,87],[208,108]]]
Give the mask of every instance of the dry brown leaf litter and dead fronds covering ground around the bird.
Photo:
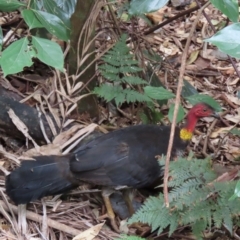
[[[116,7],[119,6],[116,4]],[[188,9],[188,6],[185,8]],[[211,19],[215,20],[215,24],[223,21],[223,16],[211,5],[205,9],[205,12],[208,16],[211,16]],[[178,13],[177,9],[166,6],[155,13],[151,13],[148,17],[154,24],[158,24],[164,21],[166,17],[170,18]],[[11,14],[16,16],[15,19],[19,18],[18,12]],[[144,37],[140,37],[141,32],[148,29],[149,26],[143,20],[133,21],[132,28],[129,28],[128,22],[123,19],[118,19],[117,21],[119,21],[118,24],[123,31],[127,31],[129,34],[134,32],[141,39],[138,49],[134,49],[134,46],[131,44],[129,46],[132,47],[133,52],[143,56],[141,59],[143,69],[146,69],[146,64],[149,61],[142,54],[142,49],[144,48],[149,49],[150,47],[152,52],[164,59],[161,62],[162,66],[155,73],[159,77],[159,81],[175,93],[181,54],[195,18],[196,12],[190,13]],[[11,25],[11,22],[9,24]],[[106,9],[102,10],[98,19],[97,30],[99,33],[95,42],[99,54],[103,53],[114,43],[111,39],[115,38],[113,34],[115,24],[112,19],[109,19]],[[112,31],[104,31],[106,28]],[[209,119],[204,123],[200,123],[190,147],[198,156],[209,152],[214,153],[214,162],[225,167],[230,166],[231,163],[235,164],[236,158],[240,154],[239,137],[229,134],[229,131],[233,128],[238,128],[240,123],[239,78],[231,63],[226,59],[226,56],[224,54],[221,55],[217,49],[203,42],[205,38],[211,35],[212,32],[205,17],[201,16],[189,48],[184,77],[198,92],[214,97],[221,104],[223,109],[221,114],[222,121],[216,122],[213,119]],[[85,46],[85,52],[87,52],[88,47],[89,45]],[[85,62],[87,57],[79,59],[79,65]],[[97,56],[96,61],[98,59],[99,56]],[[154,62],[151,63],[154,64]],[[240,69],[239,62],[237,67]],[[78,76],[80,75],[81,73],[78,73]],[[21,77],[24,78],[25,76]],[[41,80],[34,80],[31,77],[33,76],[27,76],[28,80],[25,80],[25,86],[20,85],[22,79],[18,81],[19,76],[12,76],[10,81],[2,78],[1,86],[24,97],[21,102],[37,106],[39,112],[41,111],[46,116],[54,139],[51,142],[47,138],[46,134],[44,134],[44,126],[41,125],[41,130],[48,144],[39,146],[29,134],[27,126],[24,126],[21,119],[10,109],[11,119],[19,131],[26,136],[26,143],[28,142],[27,139],[29,142],[24,148],[15,152],[8,146],[0,146],[2,155],[0,168],[5,174],[8,174],[16,165],[19,165],[23,158],[31,158],[36,154],[66,154],[72,151],[78,143],[83,141],[85,137],[97,128],[97,124],[91,123],[87,116],[85,119],[83,117],[84,122],[76,121],[76,119],[72,118],[78,101],[81,101],[83,97],[88,95],[81,94],[79,96],[79,94],[76,94],[81,92],[84,83],[76,82],[76,77],[68,76],[67,73],[65,73],[65,76],[62,76],[58,71],[53,72],[53,74],[49,73],[45,79],[40,77]],[[182,103],[186,109],[190,108],[190,105],[186,102]],[[167,110],[170,105],[171,101],[166,106],[163,106],[163,110]],[[110,112],[105,106],[99,106],[99,108],[101,111],[98,124],[101,124],[100,130],[104,133],[108,130],[136,124],[140,121],[135,117],[136,109],[131,107],[120,109],[121,115],[114,107]],[[46,112],[50,112],[54,120],[48,118]],[[126,116],[132,117],[126,118]],[[53,121],[59,128],[63,126],[69,126],[69,128],[58,132]],[[164,121],[168,122],[165,119]],[[111,123],[112,127],[107,127],[104,124],[106,122]],[[211,132],[208,131],[209,129]],[[34,147],[32,147],[32,144]],[[227,173],[228,169],[220,174],[217,181],[223,179],[231,180],[236,177],[235,172],[235,175]],[[102,203],[99,200],[100,198],[91,195],[91,191],[88,191],[88,185],[80,187],[80,192],[85,192],[86,194],[76,195],[76,197],[74,192],[79,191],[78,189],[69,194],[68,197],[46,197],[41,201],[29,204],[26,210],[24,206],[16,207],[8,201],[4,192],[3,175],[0,176],[0,184],[0,239],[23,239],[22,233],[24,233],[26,239],[34,240],[48,239],[48,237],[49,239],[75,240],[113,239],[119,236],[105,222],[98,219],[104,213],[101,209]],[[15,214],[18,215],[18,219],[16,219]]]

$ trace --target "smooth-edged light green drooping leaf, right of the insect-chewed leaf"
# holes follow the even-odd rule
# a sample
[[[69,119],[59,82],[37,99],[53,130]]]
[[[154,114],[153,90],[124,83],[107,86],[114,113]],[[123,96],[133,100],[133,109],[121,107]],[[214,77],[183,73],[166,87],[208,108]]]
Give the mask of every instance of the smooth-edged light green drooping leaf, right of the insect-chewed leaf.
[[[60,71],[64,71],[63,52],[57,43],[39,37],[32,37],[32,44],[37,50],[36,57],[39,60]]]

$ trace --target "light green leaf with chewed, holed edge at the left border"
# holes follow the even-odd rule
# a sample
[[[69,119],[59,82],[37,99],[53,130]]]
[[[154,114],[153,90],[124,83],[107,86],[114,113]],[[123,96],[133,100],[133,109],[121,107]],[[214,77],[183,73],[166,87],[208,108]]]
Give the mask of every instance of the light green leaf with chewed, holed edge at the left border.
[[[36,56],[36,52],[28,41],[28,38],[22,38],[10,46],[3,52],[0,59],[0,64],[4,76],[8,74],[18,73],[24,67],[32,66],[32,57]]]

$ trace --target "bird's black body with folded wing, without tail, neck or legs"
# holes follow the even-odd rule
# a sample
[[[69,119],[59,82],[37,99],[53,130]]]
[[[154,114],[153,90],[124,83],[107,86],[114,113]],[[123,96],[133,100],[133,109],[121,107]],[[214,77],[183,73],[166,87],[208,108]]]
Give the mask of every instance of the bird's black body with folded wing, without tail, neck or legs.
[[[70,169],[79,180],[99,185],[150,185],[160,175],[156,156],[166,154],[169,134],[169,127],[154,125],[108,133],[77,149]],[[186,145],[175,138],[176,148],[184,149]]]

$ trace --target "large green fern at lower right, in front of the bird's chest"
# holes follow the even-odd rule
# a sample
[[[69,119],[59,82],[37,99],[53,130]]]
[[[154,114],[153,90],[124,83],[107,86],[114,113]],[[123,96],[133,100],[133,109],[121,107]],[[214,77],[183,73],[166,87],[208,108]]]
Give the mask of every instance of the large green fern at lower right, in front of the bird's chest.
[[[161,167],[162,164],[160,160]],[[148,223],[152,230],[158,229],[159,234],[169,227],[169,236],[178,225],[190,225],[197,239],[202,239],[202,232],[213,226],[219,228],[224,224],[231,233],[234,224],[240,225],[240,199],[229,201],[236,181],[215,182],[209,159],[170,162],[169,174],[173,179],[169,185],[174,186],[169,192],[169,208],[164,206],[160,193],[147,199],[130,222]]]

